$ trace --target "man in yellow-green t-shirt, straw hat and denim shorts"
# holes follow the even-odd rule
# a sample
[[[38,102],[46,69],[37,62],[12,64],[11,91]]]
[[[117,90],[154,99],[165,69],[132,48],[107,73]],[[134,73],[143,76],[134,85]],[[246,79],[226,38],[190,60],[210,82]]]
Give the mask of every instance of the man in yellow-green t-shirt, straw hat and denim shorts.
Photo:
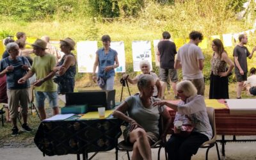
[[[36,96],[36,106],[40,113],[42,120],[46,118],[44,100],[45,98],[49,100],[49,106],[51,106],[53,115],[59,113],[58,109],[58,93],[56,84],[53,82],[52,77],[55,72],[53,68],[56,65],[55,57],[52,54],[45,52],[47,49],[47,43],[44,40],[36,39],[33,46],[33,50],[36,54],[34,58],[33,65],[28,74],[20,78],[18,83],[26,83],[29,77],[36,74],[35,86],[35,96]]]

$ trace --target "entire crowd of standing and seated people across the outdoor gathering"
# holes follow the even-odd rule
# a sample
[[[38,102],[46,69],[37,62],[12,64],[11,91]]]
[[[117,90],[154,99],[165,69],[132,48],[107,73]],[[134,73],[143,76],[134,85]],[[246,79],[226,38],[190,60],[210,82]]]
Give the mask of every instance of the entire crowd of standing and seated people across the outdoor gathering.
[[[163,40],[158,44],[157,60],[160,63],[159,76],[150,72],[150,63],[140,61],[141,74],[129,77],[131,84],[137,84],[138,92],[118,106],[113,116],[128,122],[124,131],[124,139],[133,145],[132,159],[152,159],[150,145],[160,138],[165,138],[172,118],[167,108],[177,111],[173,123],[187,118],[191,120],[193,132],[189,136],[180,137],[173,134],[166,143],[169,159],[191,159],[205,141],[211,140],[212,128],[207,116],[204,102],[205,82],[204,54],[198,44],[204,36],[199,31],[189,33],[188,44],[176,49],[170,40],[168,31],[163,32]],[[28,125],[28,104],[35,90],[36,107],[42,120],[46,118],[45,99],[49,100],[53,115],[59,113],[58,94],[74,92],[76,76],[76,42],[72,38],[60,40],[60,51],[49,43],[49,36],[42,36],[31,44],[33,49],[26,49],[26,34],[17,33],[17,40],[6,38],[3,59],[0,61],[0,100],[8,104],[12,122],[12,135],[19,133],[17,116],[22,115],[22,130],[32,131]],[[92,79],[102,90],[113,90],[115,68],[119,66],[118,53],[111,49],[111,38],[103,35],[103,47],[95,53]],[[247,79],[247,58],[253,57],[252,52],[244,46],[248,42],[246,35],[239,35],[239,44],[234,48],[234,62],[228,57],[220,39],[212,40],[211,78],[209,99],[228,99],[228,74],[235,68],[237,79],[237,99],[241,99],[243,88],[250,95],[256,95],[256,69],[250,70]],[[35,53],[35,58],[30,54]],[[96,73],[96,69],[98,71]],[[178,82],[177,69],[182,70],[182,81]],[[180,99],[178,104],[163,100],[164,83],[170,80],[173,97]],[[6,115],[9,115],[8,113]],[[159,117],[163,117],[164,130],[159,132]],[[160,135],[161,134],[161,135]]]

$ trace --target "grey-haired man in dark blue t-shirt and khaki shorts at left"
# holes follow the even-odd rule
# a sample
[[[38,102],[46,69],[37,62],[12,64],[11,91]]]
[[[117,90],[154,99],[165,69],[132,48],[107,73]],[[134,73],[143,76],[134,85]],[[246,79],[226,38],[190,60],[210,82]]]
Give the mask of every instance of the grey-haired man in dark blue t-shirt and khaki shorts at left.
[[[0,77],[6,75],[8,106],[10,108],[10,117],[12,118],[12,136],[19,134],[17,127],[17,116],[19,105],[24,124],[22,130],[31,132],[28,126],[28,103],[29,103],[29,82],[19,84],[18,80],[29,70],[29,61],[19,55],[19,46],[12,42],[6,45],[6,51],[10,54],[7,58],[0,61]]]

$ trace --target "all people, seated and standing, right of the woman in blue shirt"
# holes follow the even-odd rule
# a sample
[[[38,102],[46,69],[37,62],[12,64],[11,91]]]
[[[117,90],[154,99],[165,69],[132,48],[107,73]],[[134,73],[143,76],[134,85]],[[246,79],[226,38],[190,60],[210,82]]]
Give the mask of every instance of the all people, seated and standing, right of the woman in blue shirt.
[[[166,108],[177,111],[173,124],[177,121],[189,122],[193,130],[187,136],[182,136],[174,129],[172,136],[165,147],[169,160],[187,160],[196,154],[198,148],[212,138],[212,126],[209,122],[204,101],[205,82],[202,70],[204,68],[204,54],[198,44],[203,40],[202,33],[192,31],[189,34],[188,44],[176,51],[171,42],[170,33],[163,32],[163,40],[158,44],[158,60],[160,62],[160,80],[170,79],[175,98],[180,99],[178,104],[161,100],[161,86],[156,87],[159,79],[149,71],[149,65],[141,61],[142,74],[134,77],[124,74],[123,78],[130,83],[137,83],[139,94],[132,95],[118,106],[113,116],[128,122],[123,132],[124,139],[133,146],[132,159],[152,159],[150,145],[166,136],[172,120]],[[252,53],[244,46],[247,36],[239,35],[239,44],[234,49],[234,62],[228,58],[220,39],[212,40],[211,79],[209,99],[228,99],[228,74],[235,67],[237,79],[237,99],[241,99],[242,86],[248,93],[255,95],[256,69],[250,70],[251,76],[247,80],[247,57]],[[175,55],[177,54],[177,55]],[[175,58],[176,56],[176,58]],[[228,65],[228,67],[227,67]],[[182,69],[182,81],[177,83],[177,69]],[[246,81],[244,83],[244,81]],[[157,90],[157,91],[156,91]],[[159,135],[159,116],[163,116],[165,128]],[[174,125],[175,126],[175,125]],[[167,130],[166,130],[167,129]]]

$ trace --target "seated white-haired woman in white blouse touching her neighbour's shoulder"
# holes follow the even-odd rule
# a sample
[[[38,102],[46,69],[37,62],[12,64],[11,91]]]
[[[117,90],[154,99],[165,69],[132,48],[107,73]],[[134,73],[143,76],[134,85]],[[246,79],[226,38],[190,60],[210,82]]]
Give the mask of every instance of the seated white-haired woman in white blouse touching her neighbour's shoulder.
[[[204,97],[197,95],[197,90],[191,81],[181,81],[177,84],[177,92],[180,97],[179,104],[173,104],[166,100],[154,102],[155,106],[168,106],[177,111],[177,120],[189,120],[195,126],[191,134],[182,137],[179,134],[172,134],[166,143],[168,159],[191,159],[200,145],[211,140],[212,128],[207,115]],[[184,118],[186,117],[186,118]]]

